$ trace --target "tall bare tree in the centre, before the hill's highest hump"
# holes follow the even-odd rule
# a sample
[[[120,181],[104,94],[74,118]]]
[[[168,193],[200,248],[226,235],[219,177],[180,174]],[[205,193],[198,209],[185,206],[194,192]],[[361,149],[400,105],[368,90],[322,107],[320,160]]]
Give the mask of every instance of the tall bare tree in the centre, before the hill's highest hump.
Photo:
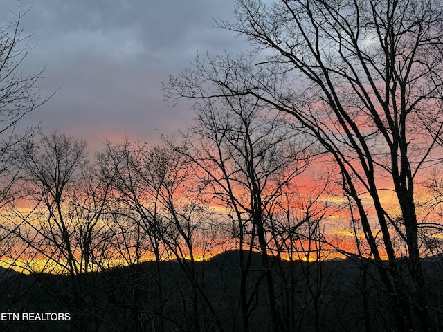
[[[309,140],[302,142],[281,115],[266,115],[270,110],[257,98],[239,95],[200,100],[195,109],[197,118],[181,153],[195,164],[195,172],[205,191],[213,196],[213,204],[230,210],[228,219],[233,222],[239,248],[243,331],[250,329],[255,297],[254,291],[248,294],[254,249],[262,257],[271,326],[281,331],[266,211],[307,167]]]

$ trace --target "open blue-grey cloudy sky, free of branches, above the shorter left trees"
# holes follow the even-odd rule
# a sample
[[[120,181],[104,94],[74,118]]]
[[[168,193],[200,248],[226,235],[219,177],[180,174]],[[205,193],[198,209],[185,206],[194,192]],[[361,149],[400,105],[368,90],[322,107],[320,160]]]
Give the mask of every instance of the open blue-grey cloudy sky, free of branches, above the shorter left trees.
[[[26,12],[28,11],[28,12]],[[159,144],[192,123],[190,102],[166,107],[161,82],[190,66],[198,53],[246,48],[213,27],[229,19],[233,0],[21,0],[21,28],[32,34],[22,69],[46,67],[42,95],[55,95],[24,118],[87,141],[98,150],[124,136]],[[17,12],[17,0],[0,1],[0,20]]]

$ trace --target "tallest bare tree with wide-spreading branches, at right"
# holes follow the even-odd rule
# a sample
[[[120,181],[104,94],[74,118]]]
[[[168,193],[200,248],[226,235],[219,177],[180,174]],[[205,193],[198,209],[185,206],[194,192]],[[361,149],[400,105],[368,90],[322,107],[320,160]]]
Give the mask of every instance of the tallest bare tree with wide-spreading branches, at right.
[[[250,94],[291,115],[337,163],[370,256],[388,259],[388,268],[378,266],[393,326],[429,331],[415,187],[438,159],[443,127],[440,3],[239,0],[234,13],[235,21],[219,26],[246,36],[258,56],[197,59],[171,77],[167,97]],[[383,201],[388,191],[398,209]],[[407,278],[400,256],[408,260]]]

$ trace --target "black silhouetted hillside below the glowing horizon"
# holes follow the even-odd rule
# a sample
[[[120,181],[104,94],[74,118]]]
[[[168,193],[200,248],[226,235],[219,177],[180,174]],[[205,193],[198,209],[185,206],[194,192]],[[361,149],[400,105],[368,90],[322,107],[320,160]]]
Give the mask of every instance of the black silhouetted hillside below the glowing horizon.
[[[2,271],[2,317],[10,312],[20,319],[1,320],[1,331],[241,331],[238,257],[233,251],[195,262],[194,283],[184,272],[188,261],[146,262],[76,278]],[[424,260],[433,308],[443,306],[440,258]],[[248,278],[250,331],[269,330],[261,266],[260,255],[254,254]],[[395,330],[387,295],[373,277],[375,268],[352,258],[321,264],[274,260],[282,324],[291,331]],[[21,313],[69,313],[71,320],[22,320]],[[443,313],[431,313],[433,331],[442,331]]]

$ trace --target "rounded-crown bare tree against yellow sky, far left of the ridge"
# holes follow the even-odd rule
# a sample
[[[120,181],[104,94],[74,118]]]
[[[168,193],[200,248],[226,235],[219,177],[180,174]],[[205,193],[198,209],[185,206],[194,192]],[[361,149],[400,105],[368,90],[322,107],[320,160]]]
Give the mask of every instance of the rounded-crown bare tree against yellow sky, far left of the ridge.
[[[87,331],[91,318],[98,329],[105,312],[98,306],[102,299],[94,273],[116,258],[113,225],[105,219],[109,183],[101,182],[89,164],[86,143],[72,136],[40,133],[39,140],[24,140],[20,147],[21,200],[8,205],[3,227],[24,244],[19,258],[33,257],[30,270],[69,275],[58,291],[69,299],[64,305],[71,308],[75,326]]]

